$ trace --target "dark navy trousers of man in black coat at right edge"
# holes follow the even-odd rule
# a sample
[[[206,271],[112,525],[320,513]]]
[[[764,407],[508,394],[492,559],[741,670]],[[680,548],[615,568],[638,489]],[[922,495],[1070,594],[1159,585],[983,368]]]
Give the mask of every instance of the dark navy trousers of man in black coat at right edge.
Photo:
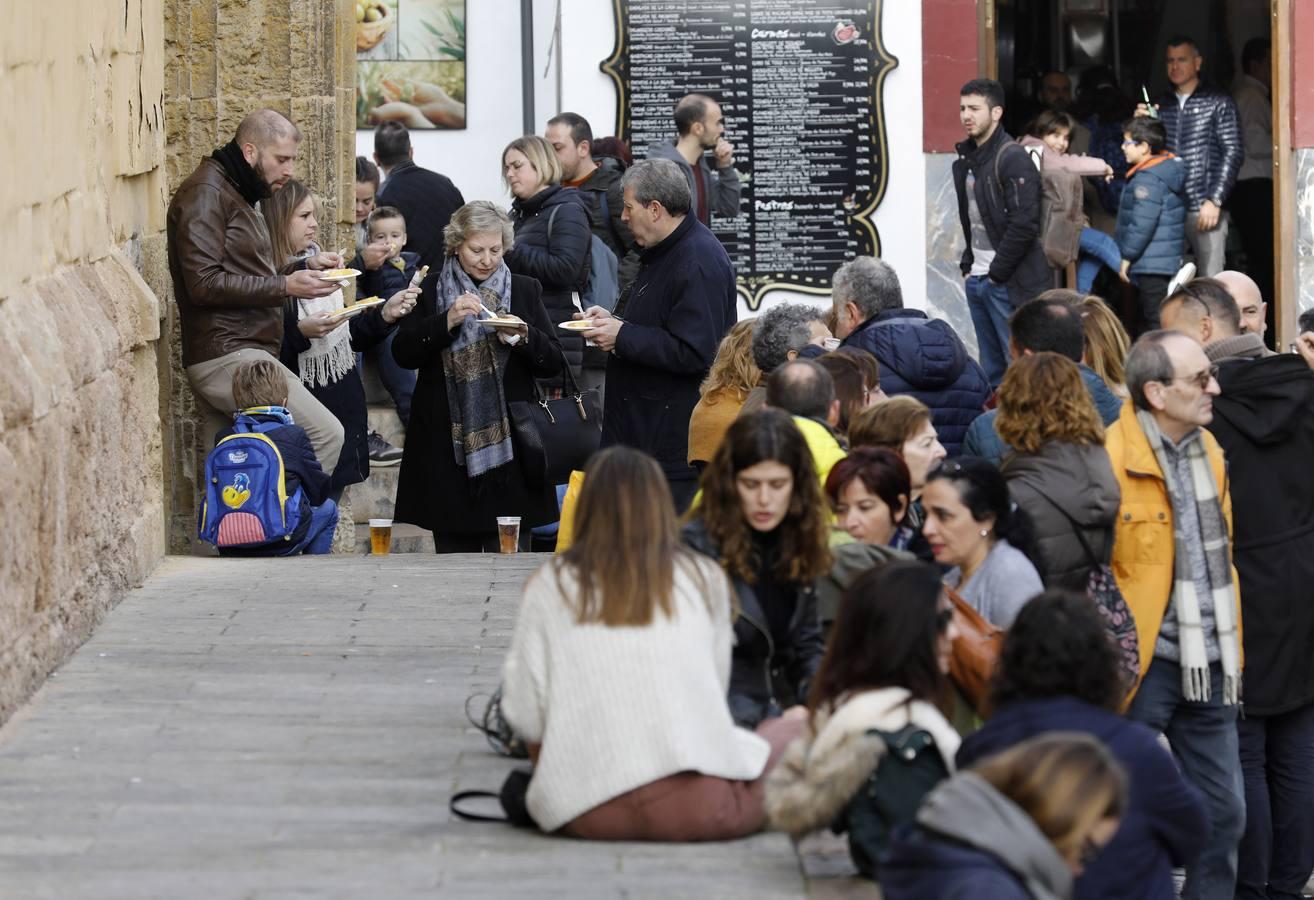
[[[1238,900],[1300,897],[1314,871],[1314,703],[1236,723],[1246,776]]]

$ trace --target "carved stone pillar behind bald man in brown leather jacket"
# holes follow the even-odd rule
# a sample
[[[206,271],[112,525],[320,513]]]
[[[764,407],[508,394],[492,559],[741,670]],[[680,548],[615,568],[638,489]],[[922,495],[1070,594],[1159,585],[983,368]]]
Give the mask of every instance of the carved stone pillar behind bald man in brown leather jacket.
[[[304,141],[296,177],[323,200],[321,242],[343,247],[355,210],[353,0],[163,0],[167,192],[227,143],[242,117],[268,106]],[[196,531],[196,474],[205,435],[179,356],[164,236],[146,247],[146,279],[166,300],[160,353],[168,545]]]

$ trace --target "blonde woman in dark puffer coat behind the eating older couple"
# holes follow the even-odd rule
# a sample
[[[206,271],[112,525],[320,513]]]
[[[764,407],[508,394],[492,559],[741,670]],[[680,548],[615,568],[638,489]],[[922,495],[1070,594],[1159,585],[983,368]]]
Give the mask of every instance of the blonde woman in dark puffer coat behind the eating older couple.
[[[561,187],[561,163],[552,145],[533,134],[516,138],[502,151],[502,177],[515,196],[515,247],[507,251],[506,264],[516,275],[537,279],[548,318],[553,325],[565,322],[583,307],[589,285],[593,230],[585,200],[574,188]],[[581,296],[578,309],[576,293]],[[564,334],[560,339],[582,386],[600,381],[582,377],[581,365],[604,369],[606,353],[586,351],[579,335]]]

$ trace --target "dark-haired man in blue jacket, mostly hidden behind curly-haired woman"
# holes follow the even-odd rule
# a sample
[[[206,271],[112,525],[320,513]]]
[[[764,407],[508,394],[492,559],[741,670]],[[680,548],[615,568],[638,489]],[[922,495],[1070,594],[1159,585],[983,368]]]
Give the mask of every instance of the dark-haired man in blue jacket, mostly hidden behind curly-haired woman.
[[[1008,349],[1013,360],[1033,353],[1058,353],[1077,364],[1081,381],[1091,393],[1096,411],[1110,426],[1118,420],[1122,411],[1122,398],[1109,390],[1093,369],[1081,359],[1085,355],[1085,331],[1081,327],[1081,314],[1060,300],[1041,294],[1017,309],[1008,319]],[[1004,443],[995,430],[999,410],[982,413],[967,428],[963,440],[963,456],[980,456],[999,465],[1013,448]]]

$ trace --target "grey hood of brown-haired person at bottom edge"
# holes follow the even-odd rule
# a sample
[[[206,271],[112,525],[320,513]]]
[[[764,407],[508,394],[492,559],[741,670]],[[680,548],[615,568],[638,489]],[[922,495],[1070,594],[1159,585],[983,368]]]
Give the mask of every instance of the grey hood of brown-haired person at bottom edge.
[[[975,773],[959,773],[928,794],[917,824],[991,854],[1033,900],[1072,897],[1072,870],[1059,851],[1021,807]]]

